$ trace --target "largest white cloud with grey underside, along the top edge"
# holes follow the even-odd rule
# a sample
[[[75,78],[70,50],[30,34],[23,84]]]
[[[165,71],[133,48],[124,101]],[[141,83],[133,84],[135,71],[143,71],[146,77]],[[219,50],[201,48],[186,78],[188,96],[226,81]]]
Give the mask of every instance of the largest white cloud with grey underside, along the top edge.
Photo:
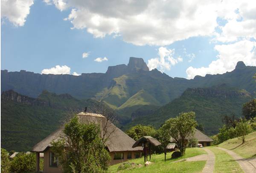
[[[94,37],[121,35],[128,43],[158,46],[213,35],[217,17],[234,18],[233,11],[239,6],[233,0],[90,0],[90,3],[52,0],[52,3],[60,10],[71,8],[65,20]]]

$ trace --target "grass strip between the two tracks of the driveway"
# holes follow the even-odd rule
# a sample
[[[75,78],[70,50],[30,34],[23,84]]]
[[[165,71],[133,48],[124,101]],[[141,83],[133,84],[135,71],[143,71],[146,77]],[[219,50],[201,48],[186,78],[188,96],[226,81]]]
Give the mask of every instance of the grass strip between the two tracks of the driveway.
[[[216,147],[208,147],[215,154],[214,173],[243,173],[239,164],[225,151]]]

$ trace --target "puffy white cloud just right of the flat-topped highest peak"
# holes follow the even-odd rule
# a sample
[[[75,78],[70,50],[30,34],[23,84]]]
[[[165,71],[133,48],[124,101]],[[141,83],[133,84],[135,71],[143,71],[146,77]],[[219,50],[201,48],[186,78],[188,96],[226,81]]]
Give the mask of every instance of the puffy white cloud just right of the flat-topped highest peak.
[[[160,68],[161,72],[165,70],[170,70],[171,66],[174,66],[178,62],[182,62],[183,58],[178,57],[175,59],[173,56],[175,54],[175,49],[167,49],[166,47],[160,47],[158,49],[158,58],[151,58],[148,60],[149,70]]]

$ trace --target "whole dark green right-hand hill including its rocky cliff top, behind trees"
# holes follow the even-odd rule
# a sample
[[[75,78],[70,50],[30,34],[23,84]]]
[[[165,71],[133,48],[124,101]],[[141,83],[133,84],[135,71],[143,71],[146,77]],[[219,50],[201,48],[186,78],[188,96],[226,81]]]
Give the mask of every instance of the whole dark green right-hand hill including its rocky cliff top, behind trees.
[[[135,118],[125,128],[135,124],[153,125],[160,127],[164,121],[176,117],[180,112],[194,111],[198,123],[203,124],[208,135],[216,134],[221,127],[222,115],[234,114],[241,116],[242,104],[251,99],[245,90],[221,85],[212,88],[187,89],[180,98],[159,108],[154,113]]]

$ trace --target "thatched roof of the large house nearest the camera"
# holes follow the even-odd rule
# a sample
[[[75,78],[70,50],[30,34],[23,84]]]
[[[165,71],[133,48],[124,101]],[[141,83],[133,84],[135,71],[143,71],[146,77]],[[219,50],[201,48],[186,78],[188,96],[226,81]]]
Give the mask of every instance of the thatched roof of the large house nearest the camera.
[[[108,141],[106,141],[106,147],[108,147],[109,152],[143,150],[142,147],[133,148],[132,145],[135,143],[134,139],[126,135],[122,130],[117,128],[101,114],[81,112],[78,114],[78,116],[79,122],[81,123],[93,122],[99,124],[102,134],[104,131],[103,129],[106,129],[106,136],[108,136]],[[44,138],[38,144],[36,144],[33,147],[32,152],[44,152],[44,150],[50,147],[50,143],[52,141],[56,141],[60,136],[64,135],[63,128],[64,127],[61,127],[60,129],[56,130],[55,132]]]

